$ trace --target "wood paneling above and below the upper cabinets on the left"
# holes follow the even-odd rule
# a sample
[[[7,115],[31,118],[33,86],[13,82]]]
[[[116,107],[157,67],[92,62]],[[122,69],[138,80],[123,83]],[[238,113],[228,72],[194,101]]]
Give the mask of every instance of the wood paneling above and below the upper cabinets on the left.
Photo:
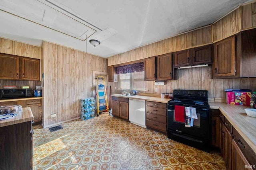
[[[42,48],[20,43],[18,41],[12,41],[10,39],[0,38],[0,53],[41,59]],[[18,88],[22,88],[22,86],[29,86],[30,88],[35,89],[36,86],[40,85],[40,81],[0,80],[0,88],[2,88],[2,86],[18,86]]]

